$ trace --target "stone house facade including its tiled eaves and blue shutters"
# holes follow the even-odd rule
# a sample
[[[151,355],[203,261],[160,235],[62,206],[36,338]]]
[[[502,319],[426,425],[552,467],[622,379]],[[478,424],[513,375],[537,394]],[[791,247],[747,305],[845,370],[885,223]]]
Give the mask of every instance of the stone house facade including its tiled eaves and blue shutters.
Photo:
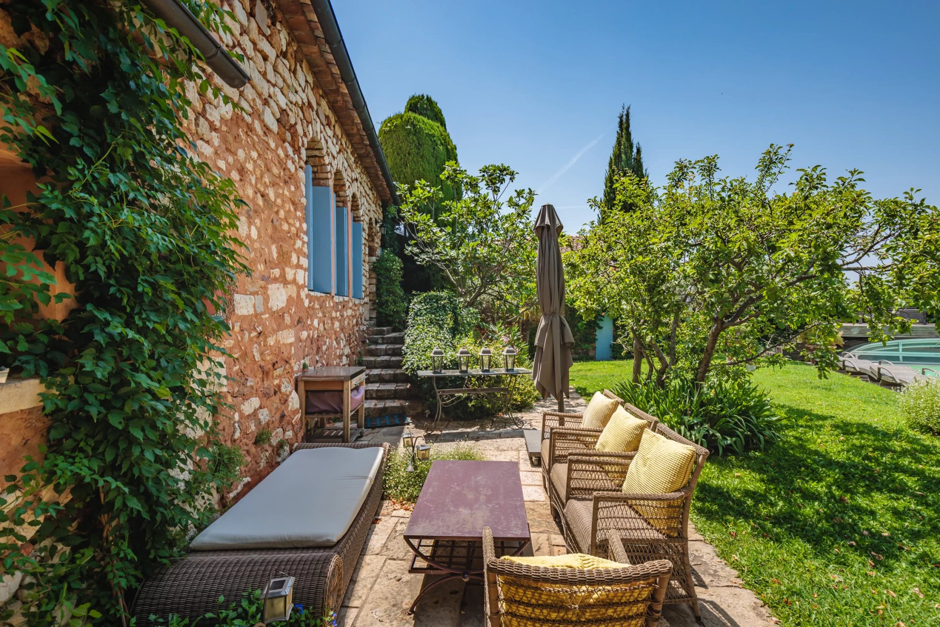
[[[235,19],[228,20],[230,34],[216,37],[243,55],[250,81],[236,89],[207,72],[241,110],[190,86],[194,105],[188,130],[199,156],[234,180],[247,203],[240,210],[239,235],[252,274],[238,278],[226,312],[232,327],[225,343],[231,354],[227,396],[233,409],[219,424],[223,438],[243,449],[247,464],[242,482],[223,495],[227,501],[263,478],[302,438],[294,375],[305,367],[355,364],[362,353],[374,317],[371,265],[381,245],[383,207],[395,196],[354,73],[351,80],[343,71],[352,67],[345,45],[327,40],[331,30],[338,33],[329,3],[220,4]],[[2,10],[0,37],[12,37]],[[23,174],[22,166],[0,150],[0,171]],[[335,279],[343,264],[337,254],[332,268],[310,267],[311,186],[332,190],[331,219],[340,212],[346,216],[345,232],[333,237],[345,253],[346,273],[332,281],[332,290],[308,289],[314,273]],[[34,454],[44,440],[39,391],[38,382],[0,384],[4,474],[18,470],[23,456]],[[259,438],[259,432],[270,437]]]

